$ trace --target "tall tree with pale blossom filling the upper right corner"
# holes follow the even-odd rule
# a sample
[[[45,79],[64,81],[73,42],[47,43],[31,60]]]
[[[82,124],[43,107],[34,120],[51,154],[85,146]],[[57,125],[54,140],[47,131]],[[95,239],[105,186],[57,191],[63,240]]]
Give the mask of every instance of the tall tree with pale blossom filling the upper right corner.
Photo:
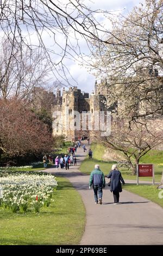
[[[109,44],[94,41],[91,65],[106,78],[107,103],[125,101],[121,115],[131,120],[163,114],[162,11],[162,0],[146,0],[126,17],[112,17]]]

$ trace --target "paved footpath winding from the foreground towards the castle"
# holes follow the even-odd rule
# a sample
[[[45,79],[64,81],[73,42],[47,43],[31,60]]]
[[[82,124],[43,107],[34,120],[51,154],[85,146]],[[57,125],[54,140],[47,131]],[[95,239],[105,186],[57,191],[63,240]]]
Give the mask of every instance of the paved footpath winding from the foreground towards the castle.
[[[89,190],[89,175],[78,170],[86,154],[83,148],[78,149],[78,165],[70,170],[47,169],[70,180],[83,198],[86,226],[80,245],[162,245],[163,209],[159,205],[125,190],[120,193],[121,204],[114,205],[108,187],[103,190],[103,204],[95,205],[93,190]]]

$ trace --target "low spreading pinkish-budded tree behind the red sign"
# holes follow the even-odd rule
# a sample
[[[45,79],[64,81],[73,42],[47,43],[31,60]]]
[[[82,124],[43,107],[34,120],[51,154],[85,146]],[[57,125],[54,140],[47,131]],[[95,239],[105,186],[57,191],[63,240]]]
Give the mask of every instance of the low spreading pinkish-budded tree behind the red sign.
[[[129,161],[133,174],[135,164],[141,157],[163,141],[163,120],[142,120],[142,123],[128,123],[127,119],[112,120],[111,135],[100,137],[100,142],[108,148],[121,151]]]

